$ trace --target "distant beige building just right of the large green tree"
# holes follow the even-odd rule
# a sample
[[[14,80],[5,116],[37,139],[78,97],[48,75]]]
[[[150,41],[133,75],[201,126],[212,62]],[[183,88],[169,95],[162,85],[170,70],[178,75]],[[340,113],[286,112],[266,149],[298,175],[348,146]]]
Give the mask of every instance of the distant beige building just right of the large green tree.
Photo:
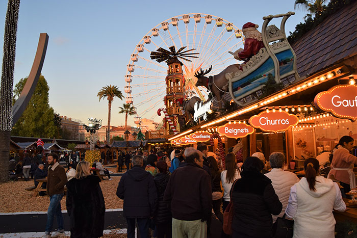
[[[84,134],[82,131],[82,122],[78,119],[61,117],[61,129],[62,139],[68,140],[84,140]]]

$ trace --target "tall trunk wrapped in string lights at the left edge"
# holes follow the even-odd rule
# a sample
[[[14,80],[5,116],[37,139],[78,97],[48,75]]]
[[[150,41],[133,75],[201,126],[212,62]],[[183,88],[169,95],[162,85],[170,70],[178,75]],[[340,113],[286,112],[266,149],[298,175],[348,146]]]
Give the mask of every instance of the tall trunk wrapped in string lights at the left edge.
[[[17,19],[20,0],[9,0],[5,18],[3,72],[0,89],[0,181],[9,179],[12,86],[14,84]]]

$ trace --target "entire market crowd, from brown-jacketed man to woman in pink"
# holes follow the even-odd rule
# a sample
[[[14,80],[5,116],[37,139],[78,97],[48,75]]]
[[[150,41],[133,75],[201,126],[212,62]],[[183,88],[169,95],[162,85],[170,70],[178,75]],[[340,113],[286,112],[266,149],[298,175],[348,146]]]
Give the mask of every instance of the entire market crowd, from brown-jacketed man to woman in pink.
[[[118,164],[125,164],[126,172],[116,195],[123,199],[127,237],[135,236],[136,226],[140,237],[207,237],[212,210],[223,224],[228,205],[233,209],[233,233],[222,231],[221,237],[274,237],[273,224],[279,218],[294,221],[294,237],[334,237],[333,210],[344,211],[342,196],[355,188],[350,176],[357,164],[357,157],[350,153],[353,143],[353,138],[342,137],[331,157],[327,177],[338,180],[342,190],[333,180],[320,176],[316,158],[305,160],[301,179],[285,171],[286,157],[281,152],[272,152],[267,159],[263,153],[253,153],[243,163],[227,153],[222,171],[216,158],[208,156],[204,143],[196,149],[120,152]],[[91,174],[90,167],[110,178],[108,171],[101,160],[93,165],[70,161],[67,171],[59,161],[58,154],[50,153],[47,170],[39,164],[34,172],[35,184],[37,178],[47,176],[50,204],[45,237],[64,235],[61,199],[65,186],[71,237],[103,236],[105,202],[100,179]],[[50,236],[55,217],[58,229]]]

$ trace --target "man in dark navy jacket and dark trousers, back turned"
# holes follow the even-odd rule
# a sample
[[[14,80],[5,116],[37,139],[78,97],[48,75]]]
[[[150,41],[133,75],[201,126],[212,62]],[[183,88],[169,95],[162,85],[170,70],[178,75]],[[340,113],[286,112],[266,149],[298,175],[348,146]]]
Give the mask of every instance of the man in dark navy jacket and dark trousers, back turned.
[[[143,168],[141,155],[134,155],[133,168],[121,176],[116,195],[124,200],[123,216],[126,218],[127,237],[135,236],[135,219],[140,237],[148,237],[149,218],[157,205],[157,190],[154,177]]]

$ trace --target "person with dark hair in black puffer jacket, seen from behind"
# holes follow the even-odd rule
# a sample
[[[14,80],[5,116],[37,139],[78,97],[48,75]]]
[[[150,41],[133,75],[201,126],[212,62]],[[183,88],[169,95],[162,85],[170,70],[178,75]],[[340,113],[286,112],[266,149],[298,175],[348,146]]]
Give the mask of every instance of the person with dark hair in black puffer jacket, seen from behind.
[[[248,157],[242,166],[242,178],[232,187],[233,237],[272,237],[271,214],[278,215],[283,206],[271,180],[261,173],[263,168],[258,157]]]

